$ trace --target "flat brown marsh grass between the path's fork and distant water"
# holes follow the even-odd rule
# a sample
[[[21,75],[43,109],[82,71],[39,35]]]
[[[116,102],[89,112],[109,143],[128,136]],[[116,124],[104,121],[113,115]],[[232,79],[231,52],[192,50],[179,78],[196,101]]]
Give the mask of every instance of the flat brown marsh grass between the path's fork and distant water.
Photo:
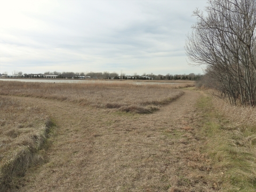
[[[159,109],[159,106],[180,97],[183,94],[180,88],[191,86],[194,84],[1,82],[0,94],[69,101],[96,108],[151,113]]]

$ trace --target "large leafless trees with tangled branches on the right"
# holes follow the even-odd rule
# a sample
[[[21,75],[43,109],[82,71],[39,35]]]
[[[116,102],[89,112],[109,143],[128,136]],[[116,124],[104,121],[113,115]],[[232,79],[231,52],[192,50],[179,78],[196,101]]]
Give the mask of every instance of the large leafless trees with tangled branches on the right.
[[[212,0],[205,11],[194,12],[197,22],[185,45],[189,60],[207,66],[208,82],[230,103],[254,106],[255,0]]]

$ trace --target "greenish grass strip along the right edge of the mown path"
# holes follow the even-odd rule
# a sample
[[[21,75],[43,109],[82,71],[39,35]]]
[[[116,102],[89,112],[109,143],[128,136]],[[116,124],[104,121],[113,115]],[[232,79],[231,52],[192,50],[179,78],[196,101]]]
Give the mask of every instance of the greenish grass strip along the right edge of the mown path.
[[[212,99],[203,96],[197,107],[203,110],[201,152],[212,162],[212,172],[223,191],[256,190],[256,126],[235,127],[217,109]],[[238,119],[239,121],[239,119]]]

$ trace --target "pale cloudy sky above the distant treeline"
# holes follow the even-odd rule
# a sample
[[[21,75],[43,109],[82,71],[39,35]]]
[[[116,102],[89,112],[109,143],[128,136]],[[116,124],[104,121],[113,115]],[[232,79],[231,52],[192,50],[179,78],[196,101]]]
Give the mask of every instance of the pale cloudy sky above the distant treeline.
[[[201,73],[187,64],[206,0],[0,0],[0,73]]]

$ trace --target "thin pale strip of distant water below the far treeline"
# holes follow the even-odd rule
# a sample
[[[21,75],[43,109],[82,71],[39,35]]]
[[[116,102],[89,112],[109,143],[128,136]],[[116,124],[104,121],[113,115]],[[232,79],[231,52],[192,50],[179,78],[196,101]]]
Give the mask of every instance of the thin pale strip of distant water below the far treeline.
[[[86,79],[28,79],[28,78],[0,78],[0,81],[18,81],[18,82],[39,82],[39,83],[132,83],[137,85],[154,84],[180,84],[180,83],[160,83],[143,81],[111,81],[111,80],[86,80]]]

